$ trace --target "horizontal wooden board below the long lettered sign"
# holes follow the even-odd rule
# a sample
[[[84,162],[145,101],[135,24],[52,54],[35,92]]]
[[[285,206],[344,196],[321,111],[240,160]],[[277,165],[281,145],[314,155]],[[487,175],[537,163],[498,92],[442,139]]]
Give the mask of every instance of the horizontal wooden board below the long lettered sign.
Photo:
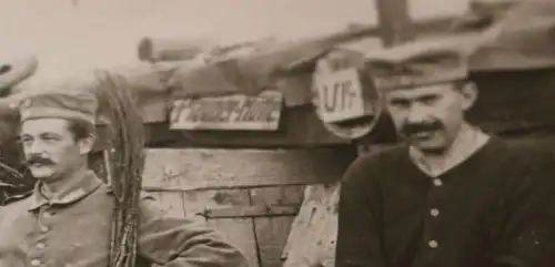
[[[339,181],[354,154],[341,148],[147,151],[148,191],[252,188]]]

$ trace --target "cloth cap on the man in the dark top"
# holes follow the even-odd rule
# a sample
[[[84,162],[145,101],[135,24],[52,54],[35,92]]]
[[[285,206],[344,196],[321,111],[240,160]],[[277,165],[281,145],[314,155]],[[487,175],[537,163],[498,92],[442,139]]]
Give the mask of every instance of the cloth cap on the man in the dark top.
[[[381,91],[465,80],[472,38],[445,38],[373,51],[365,64]]]

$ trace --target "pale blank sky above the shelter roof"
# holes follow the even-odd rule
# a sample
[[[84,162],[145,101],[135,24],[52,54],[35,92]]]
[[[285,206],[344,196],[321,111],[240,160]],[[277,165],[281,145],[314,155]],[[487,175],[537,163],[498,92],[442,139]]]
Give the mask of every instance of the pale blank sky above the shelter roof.
[[[458,14],[468,3],[408,1],[415,20]],[[0,0],[0,61],[38,55],[33,83],[133,64],[143,37],[229,43],[295,39],[375,22],[373,0]]]

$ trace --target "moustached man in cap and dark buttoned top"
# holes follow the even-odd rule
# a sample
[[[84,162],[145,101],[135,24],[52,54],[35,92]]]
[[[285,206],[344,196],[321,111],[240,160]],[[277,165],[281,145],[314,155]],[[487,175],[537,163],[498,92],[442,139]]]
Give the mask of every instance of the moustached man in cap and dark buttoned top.
[[[555,266],[553,154],[465,120],[478,95],[465,41],[367,55],[406,142],[345,173],[336,267]]]

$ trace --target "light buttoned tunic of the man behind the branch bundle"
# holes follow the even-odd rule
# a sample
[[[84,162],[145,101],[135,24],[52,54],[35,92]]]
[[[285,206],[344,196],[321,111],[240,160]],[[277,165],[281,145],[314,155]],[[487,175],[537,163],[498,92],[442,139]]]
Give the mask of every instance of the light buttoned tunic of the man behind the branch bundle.
[[[113,195],[91,172],[58,201],[40,193],[0,208],[0,267],[107,267]],[[140,203],[138,265],[246,266],[215,232]]]

